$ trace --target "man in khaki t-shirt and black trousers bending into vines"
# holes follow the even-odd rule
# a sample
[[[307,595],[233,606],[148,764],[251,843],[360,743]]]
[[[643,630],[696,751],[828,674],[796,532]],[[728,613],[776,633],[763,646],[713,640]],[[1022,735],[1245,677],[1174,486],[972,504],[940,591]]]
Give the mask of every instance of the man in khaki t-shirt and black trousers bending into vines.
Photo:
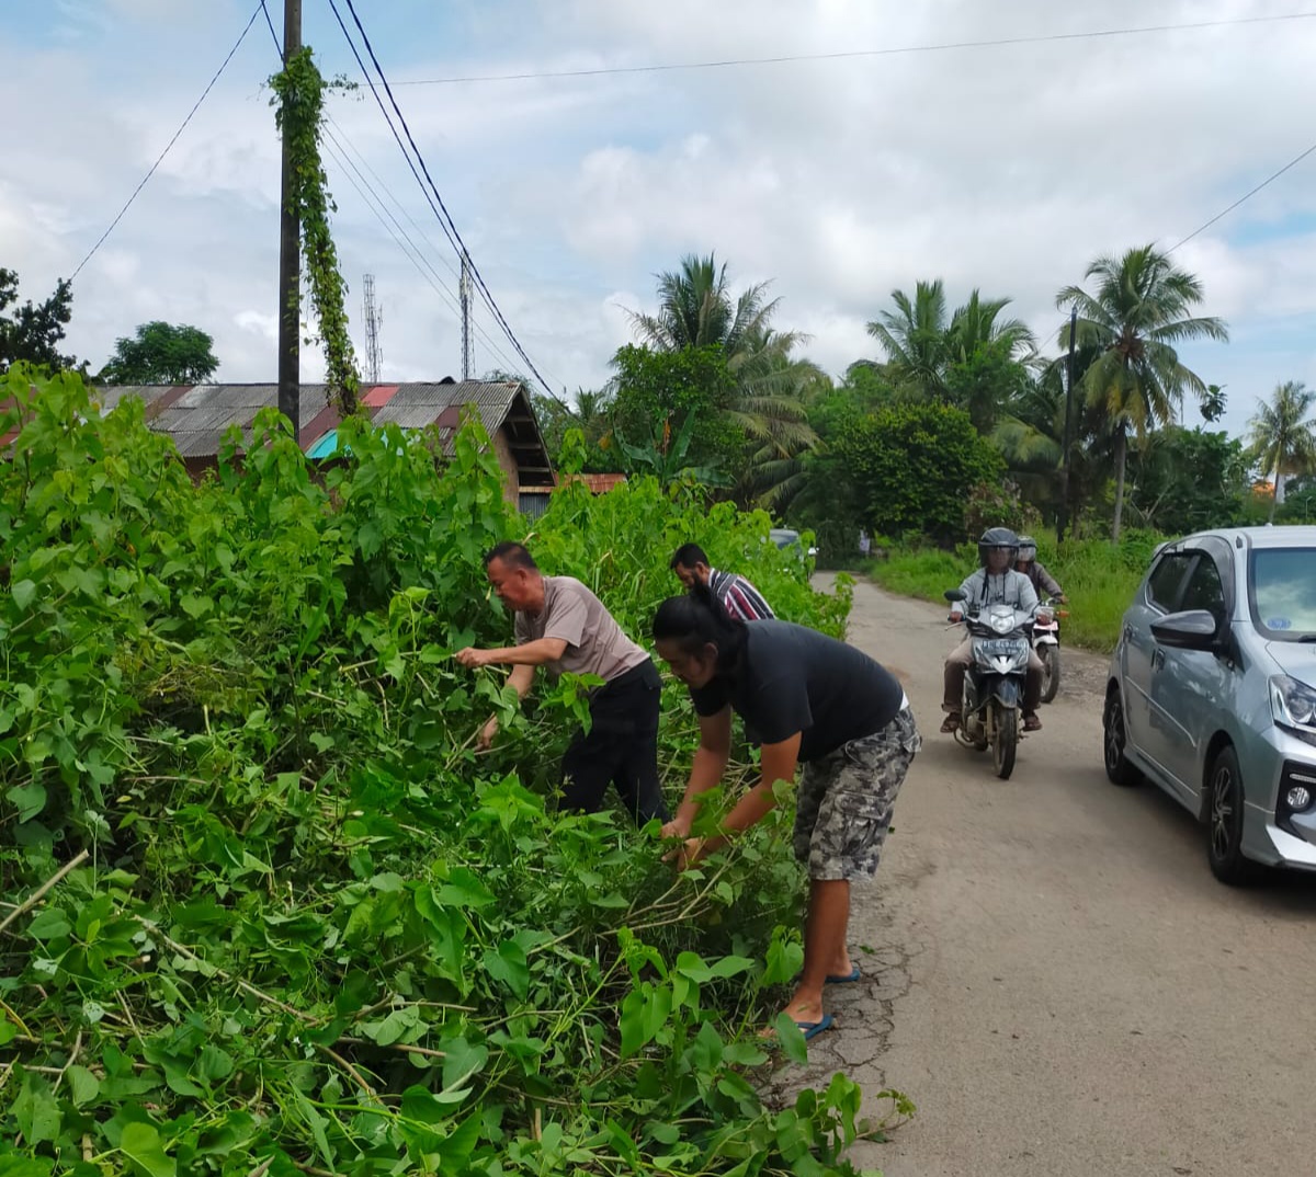
[[[516,644],[458,651],[466,667],[504,663],[508,683],[525,697],[536,667],[553,677],[563,671],[597,675],[604,685],[590,697],[590,731],[578,731],[562,757],[562,804],[594,813],[608,781],[626,811],[644,825],[670,817],[658,784],[658,701],[662,681],[645,651],[632,642],[603,602],[571,576],[545,576],[520,543],[500,543],[484,556],[499,600],[516,613]],[[480,733],[488,747],[497,733],[490,719]]]

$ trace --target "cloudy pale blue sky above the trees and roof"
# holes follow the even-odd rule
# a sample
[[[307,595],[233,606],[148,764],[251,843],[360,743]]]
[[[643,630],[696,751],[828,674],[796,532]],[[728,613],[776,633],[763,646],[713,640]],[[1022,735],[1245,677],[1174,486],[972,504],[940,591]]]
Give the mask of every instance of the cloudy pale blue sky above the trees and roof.
[[[282,34],[282,0],[267,0]],[[1009,297],[1055,351],[1057,291],[1170,247],[1312,146],[1309,18],[971,46],[1307,12],[1302,0],[355,0],[436,185],[554,392],[596,388],[654,275],[716,252],[770,281],[776,325],[836,376],[880,351],[894,289]],[[340,9],[353,28],[345,0]],[[254,12],[247,0],[0,0],[0,266],[45,299],[92,250]],[[304,0],[326,75],[361,80],[329,0]],[[957,43],[962,47],[933,49]],[[692,62],[826,60],[453,82]],[[912,51],[891,51],[912,50]],[[74,281],[66,350],[97,370],[151,320],[215,338],[216,379],[276,376],[279,145],[258,16],[150,181]],[[447,79],[438,80],[436,79]],[[461,375],[455,255],[368,89],[328,104],[349,313],[383,313],[382,379]],[[1316,384],[1316,154],[1182,245],[1230,342],[1182,358],[1246,429]],[[408,243],[409,242],[409,243]],[[475,373],[524,370],[483,306]],[[304,348],[304,380],[322,376]],[[1184,423],[1200,423],[1187,406]]]

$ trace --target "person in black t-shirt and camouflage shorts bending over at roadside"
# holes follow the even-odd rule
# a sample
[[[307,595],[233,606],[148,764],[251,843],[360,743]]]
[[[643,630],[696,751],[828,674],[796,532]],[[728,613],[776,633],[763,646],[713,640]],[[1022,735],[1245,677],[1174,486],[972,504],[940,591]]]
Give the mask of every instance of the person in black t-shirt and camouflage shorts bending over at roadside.
[[[896,679],[853,646],[784,621],[733,621],[707,585],[671,597],[653,626],[658,656],[690,688],[699,750],[686,796],[663,834],[684,839],[684,869],[747,830],[775,804],[772,786],[794,781],[795,856],[808,865],[804,969],[786,1014],[805,1038],[826,1030],[828,982],[857,981],[846,927],[850,882],[871,878],[891,809],[919,751],[909,701]],[[726,769],[732,711],[762,742],[762,777],[736,802],[713,838],[691,838],[700,797]]]

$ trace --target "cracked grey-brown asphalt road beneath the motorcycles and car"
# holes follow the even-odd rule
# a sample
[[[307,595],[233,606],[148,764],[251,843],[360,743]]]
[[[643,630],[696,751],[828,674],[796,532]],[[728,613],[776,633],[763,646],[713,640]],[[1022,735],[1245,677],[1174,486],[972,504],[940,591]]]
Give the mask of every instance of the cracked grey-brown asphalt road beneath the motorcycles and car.
[[[998,780],[937,734],[942,618],[855,589],[850,640],[903,679],[924,750],[855,892],[865,980],[782,1082],[905,1092],[913,1120],[851,1153],[886,1177],[1316,1174],[1316,878],[1221,886],[1187,811],[1107,782],[1100,658],[1066,651]]]

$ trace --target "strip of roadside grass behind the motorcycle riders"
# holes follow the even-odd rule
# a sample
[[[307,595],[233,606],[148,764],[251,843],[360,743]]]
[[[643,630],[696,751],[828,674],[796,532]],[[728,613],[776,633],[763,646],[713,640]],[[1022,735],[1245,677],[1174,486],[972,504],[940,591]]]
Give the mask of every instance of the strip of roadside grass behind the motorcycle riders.
[[[1065,606],[1069,617],[1061,621],[1062,642],[1101,654],[1115,648],[1124,610],[1133,600],[1152,551],[1163,538],[1150,531],[1130,531],[1119,544],[1073,539],[1059,551],[1054,542],[1040,543],[1042,564],[1069,598]],[[883,558],[867,560],[861,571],[887,592],[941,604],[942,593],[958,588],[976,563],[978,550],[973,544],[961,544],[954,552],[894,546]]]

